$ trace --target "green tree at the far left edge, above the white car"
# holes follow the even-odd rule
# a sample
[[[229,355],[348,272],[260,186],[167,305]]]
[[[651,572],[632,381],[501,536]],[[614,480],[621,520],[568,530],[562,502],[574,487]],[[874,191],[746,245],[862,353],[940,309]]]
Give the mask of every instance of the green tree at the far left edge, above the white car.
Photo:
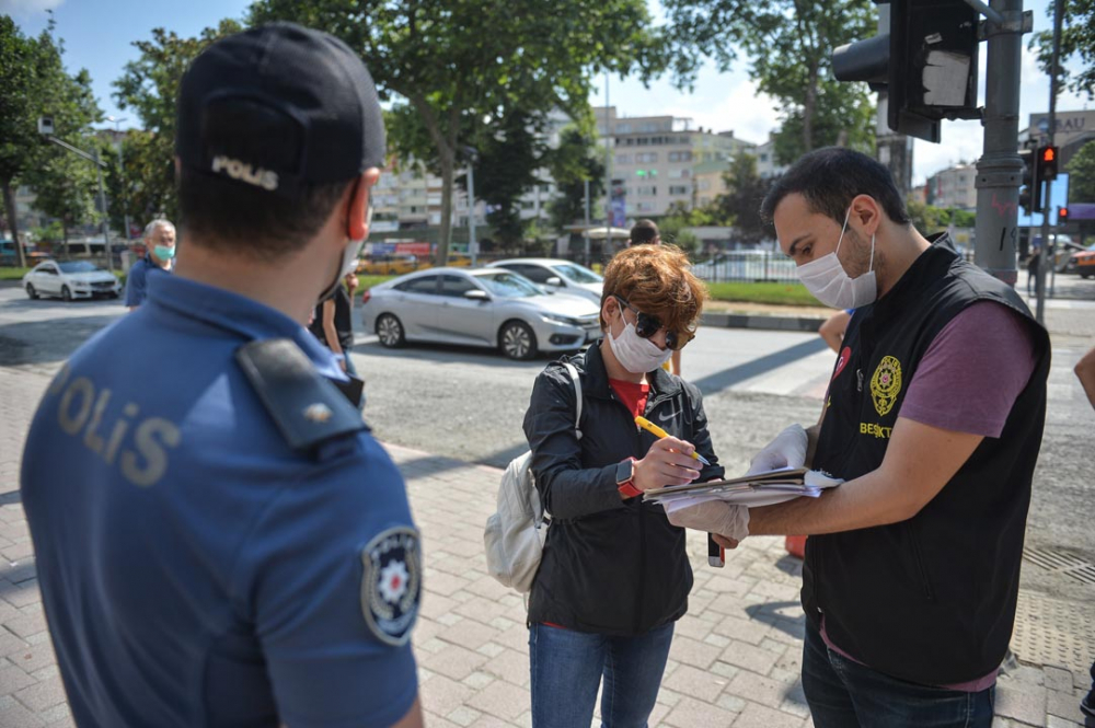
[[[19,184],[38,186],[35,183],[39,183],[48,205],[66,195],[64,189],[57,188],[56,176],[50,180],[50,173],[74,164],[72,160],[62,159],[71,152],[44,142],[37,130],[38,117],[53,117],[56,135],[70,142],[80,142],[80,135],[100,118],[91,94],[90,77],[87,71],[76,77],[66,72],[64,47],[55,41],[54,27],[50,20],[38,37],[28,38],[10,16],[0,15],[0,189],[8,228],[16,241],[15,188]],[[73,184],[69,189],[79,196],[79,187]],[[20,265],[25,265],[22,245],[15,249]]]

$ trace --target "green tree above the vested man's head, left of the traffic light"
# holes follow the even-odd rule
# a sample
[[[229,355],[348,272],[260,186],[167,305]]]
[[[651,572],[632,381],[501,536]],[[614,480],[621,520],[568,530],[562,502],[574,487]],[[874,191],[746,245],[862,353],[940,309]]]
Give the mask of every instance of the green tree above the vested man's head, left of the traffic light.
[[[780,104],[776,158],[788,164],[819,147],[869,149],[874,104],[864,84],[839,83],[833,48],[874,34],[869,0],[665,0],[681,53],[702,53],[726,70],[748,57],[758,90]]]

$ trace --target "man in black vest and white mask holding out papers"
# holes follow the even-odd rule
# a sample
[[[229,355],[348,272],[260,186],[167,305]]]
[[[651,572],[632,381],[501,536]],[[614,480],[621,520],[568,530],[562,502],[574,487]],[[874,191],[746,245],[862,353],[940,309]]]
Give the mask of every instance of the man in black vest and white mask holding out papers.
[[[762,212],[806,287],[855,309],[820,420],[784,430],[751,469],[805,464],[845,481],[748,519],[749,534],[810,536],[803,687],[814,724],[989,726],[1048,335],[946,234],[921,235],[889,172],[864,154],[807,154]],[[733,547],[741,535],[717,540]]]

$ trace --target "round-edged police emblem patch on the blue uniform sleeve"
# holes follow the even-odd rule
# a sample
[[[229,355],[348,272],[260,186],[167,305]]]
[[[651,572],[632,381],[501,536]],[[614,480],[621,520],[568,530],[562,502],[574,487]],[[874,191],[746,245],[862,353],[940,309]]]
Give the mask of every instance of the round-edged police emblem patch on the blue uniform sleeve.
[[[418,616],[422,552],[411,528],[388,529],[361,550],[361,612],[382,643],[405,645]]]

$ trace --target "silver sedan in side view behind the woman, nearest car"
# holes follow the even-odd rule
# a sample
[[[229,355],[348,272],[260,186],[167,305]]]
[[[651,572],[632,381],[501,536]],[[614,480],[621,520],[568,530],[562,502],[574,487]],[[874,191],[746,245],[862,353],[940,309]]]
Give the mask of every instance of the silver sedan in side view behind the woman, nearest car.
[[[373,286],[361,296],[361,321],[385,347],[486,346],[511,359],[578,349],[600,336],[599,305],[549,296],[500,268],[430,268]]]

